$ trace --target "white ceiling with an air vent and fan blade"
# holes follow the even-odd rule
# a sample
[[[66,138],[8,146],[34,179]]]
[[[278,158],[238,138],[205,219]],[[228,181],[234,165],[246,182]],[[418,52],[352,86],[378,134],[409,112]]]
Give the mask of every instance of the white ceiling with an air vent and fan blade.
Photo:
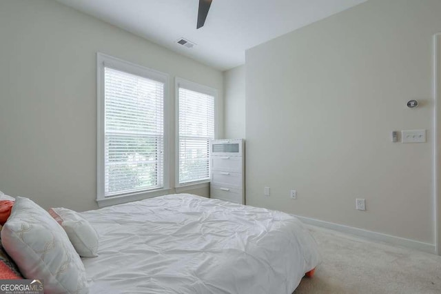
[[[367,0],[213,0],[196,30],[198,0],[57,0],[219,70],[245,50]],[[184,37],[196,43],[185,48]]]

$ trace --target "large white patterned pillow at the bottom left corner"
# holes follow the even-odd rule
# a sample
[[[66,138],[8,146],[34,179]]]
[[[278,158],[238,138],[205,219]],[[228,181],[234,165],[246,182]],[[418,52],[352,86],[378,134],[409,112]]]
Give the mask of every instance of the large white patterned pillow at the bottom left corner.
[[[83,262],[68,235],[30,199],[15,199],[1,243],[24,277],[44,280],[45,293],[88,293]]]

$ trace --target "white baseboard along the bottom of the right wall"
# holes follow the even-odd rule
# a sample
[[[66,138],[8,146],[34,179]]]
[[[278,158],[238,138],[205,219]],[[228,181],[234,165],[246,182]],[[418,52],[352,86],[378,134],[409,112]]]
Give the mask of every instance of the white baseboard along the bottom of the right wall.
[[[353,228],[352,226],[344,226],[342,224],[334,224],[332,222],[325,222],[325,221],[322,221],[319,219],[311,219],[309,217],[300,217],[298,215],[294,215],[294,216],[297,217],[298,219],[300,219],[300,221],[302,221],[305,224],[311,224],[313,226],[320,226],[322,228],[330,228],[331,230],[334,230],[334,231],[339,231],[342,233],[349,233],[349,234],[356,235],[359,237],[365,237],[365,238],[370,239],[372,241],[385,242],[385,243],[389,243],[389,244],[393,244],[393,245],[404,246],[407,248],[417,249],[417,250],[424,251],[427,253],[436,254],[434,244],[419,242],[419,241],[415,241],[415,240],[411,240],[411,239],[391,236],[391,235],[382,234],[382,233],[376,233],[373,231],[363,230],[362,228]]]

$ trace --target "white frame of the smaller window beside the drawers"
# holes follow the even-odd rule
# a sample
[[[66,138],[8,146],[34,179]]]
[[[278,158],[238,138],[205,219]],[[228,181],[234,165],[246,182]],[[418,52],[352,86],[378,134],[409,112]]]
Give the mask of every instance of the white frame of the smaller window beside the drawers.
[[[194,188],[202,188],[208,185],[210,179],[189,182],[185,184],[179,184],[179,88],[185,88],[187,90],[192,90],[195,92],[200,92],[206,95],[214,97],[214,139],[218,139],[218,90],[215,88],[210,88],[201,84],[197,84],[193,81],[188,81],[180,77],[175,78],[175,150],[174,150],[174,179],[176,193],[185,192],[186,190],[191,190]],[[211,165],[210,165],[211,168]],[[210,170],[211,173],[211,170]]]

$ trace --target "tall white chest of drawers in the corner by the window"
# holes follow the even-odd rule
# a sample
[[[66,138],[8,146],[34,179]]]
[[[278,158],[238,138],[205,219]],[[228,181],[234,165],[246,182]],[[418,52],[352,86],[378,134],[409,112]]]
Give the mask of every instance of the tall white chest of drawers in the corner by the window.
[[[245,204],[245,140],[210,142],[210,197]]]

